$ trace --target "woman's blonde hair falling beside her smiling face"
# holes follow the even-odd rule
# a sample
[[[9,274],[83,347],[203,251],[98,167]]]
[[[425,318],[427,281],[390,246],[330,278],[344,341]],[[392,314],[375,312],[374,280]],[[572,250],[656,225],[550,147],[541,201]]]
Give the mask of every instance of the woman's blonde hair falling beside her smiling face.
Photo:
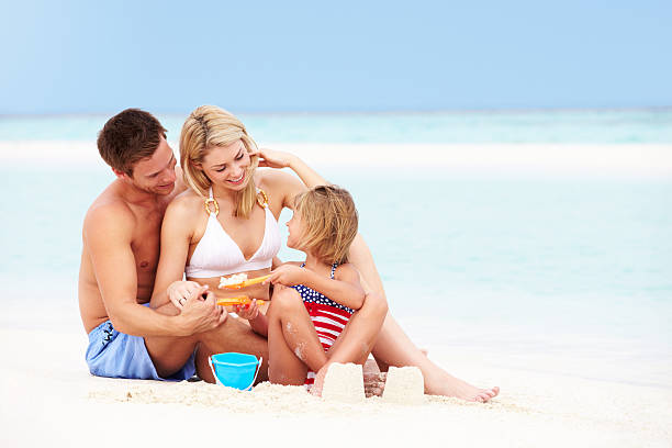
[[[212,181],[202,168],[203,157],[213,146],[227,146],[242,141],[247,153],[257,149],[257,144],[247,134],[245,125],[229,112],[216,105],[201,105],[187,119],[180,134],[180,166],[184,172],[184,183],[203,198],[209,197]],[[248,183],[238,192],[235,216],[247,217],[257,201],[257,187],[254,173],[259,165],[257,156],[251,157],[249,168],[245,173]]]

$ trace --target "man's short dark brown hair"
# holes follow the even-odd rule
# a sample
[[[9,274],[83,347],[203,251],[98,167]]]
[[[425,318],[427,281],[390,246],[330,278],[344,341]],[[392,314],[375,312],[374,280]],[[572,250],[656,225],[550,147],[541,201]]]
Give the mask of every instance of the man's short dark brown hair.
[[[154,115],[139,109],[126,109],[108,120],[98,134],[98,152],[112,168],[133,176],[133,166],[152,157],[166,138],[166,130]]]

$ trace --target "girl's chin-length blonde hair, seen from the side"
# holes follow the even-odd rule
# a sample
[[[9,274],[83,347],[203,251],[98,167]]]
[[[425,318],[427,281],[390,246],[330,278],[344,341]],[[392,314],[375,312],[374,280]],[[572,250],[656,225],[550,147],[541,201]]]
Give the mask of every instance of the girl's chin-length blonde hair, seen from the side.
[[[320,186],[294,200],[304,234],[302,249],[327,265],[348,262],[350,244],[357,236],[358,215],[347,190]]]

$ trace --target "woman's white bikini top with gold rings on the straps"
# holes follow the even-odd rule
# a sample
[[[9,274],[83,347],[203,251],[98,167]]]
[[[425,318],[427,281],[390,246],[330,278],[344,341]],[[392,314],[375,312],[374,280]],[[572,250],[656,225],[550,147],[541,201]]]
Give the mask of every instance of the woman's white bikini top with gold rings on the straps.
[[[184,268],[187,277],[204,279],[270,268],[273,257],[280,250],[280,229],[276,217],[268,208],[266,194],[261,190],[258,191],[266,200],[264,203],[258,202],[266,211],[264,239],[255,255],[246,260],[236,242],[220,224],[217,220],[220,206],[212,197],[212,188],[210,189],[210,198],[205,201],[205,209],[210,214],[208,225],[203,237],[191,255],[189,265]],[[210,210],[210,203],[214,203],[214,211]]]

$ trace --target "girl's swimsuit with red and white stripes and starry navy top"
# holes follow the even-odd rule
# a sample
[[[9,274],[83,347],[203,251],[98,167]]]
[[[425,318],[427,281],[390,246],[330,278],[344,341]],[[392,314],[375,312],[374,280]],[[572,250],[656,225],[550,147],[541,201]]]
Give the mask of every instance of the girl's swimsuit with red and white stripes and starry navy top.
[[[301,265],[301,267],[305,267],[305,262]],[[334,272],[337,267],[337,262],[332,265],[332,280],[334,279]],[[313,325],[315,326],[315,331],[317,332],[320,343],[322,343],[322,348],[324,348],[324,351],[327,351],[334,345],[338,335],[343,332],[343,328],[345,328],[355,310],[336,303],[321,292],[303,284],[295,284],[292,288],[301,294],[303,305],[307,310],[311,321],[313,321]],[[315,372],[311,370],[307,372],[305,387],[311,389],[314,382]]]

